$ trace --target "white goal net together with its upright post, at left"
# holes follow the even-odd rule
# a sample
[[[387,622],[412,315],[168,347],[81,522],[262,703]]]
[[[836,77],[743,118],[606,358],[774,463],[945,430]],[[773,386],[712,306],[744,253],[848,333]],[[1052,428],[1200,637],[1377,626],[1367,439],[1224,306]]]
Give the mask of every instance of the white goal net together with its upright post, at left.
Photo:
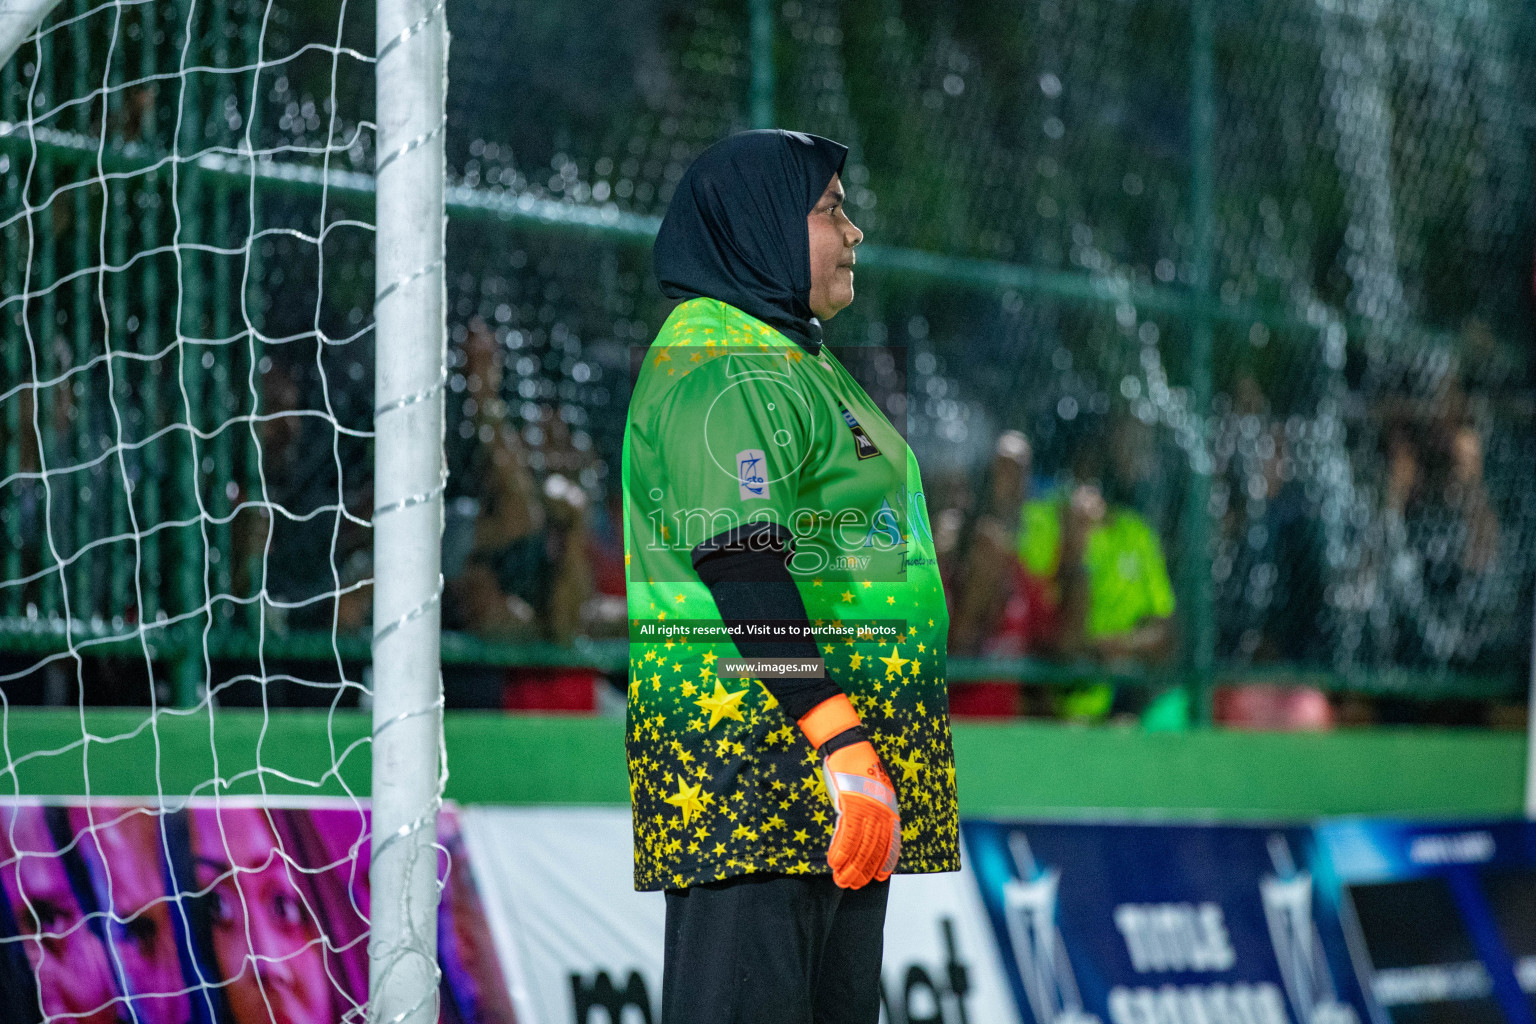
[[[436,1019],[444,48],[63,0],[0,52],[0,1019]]]

